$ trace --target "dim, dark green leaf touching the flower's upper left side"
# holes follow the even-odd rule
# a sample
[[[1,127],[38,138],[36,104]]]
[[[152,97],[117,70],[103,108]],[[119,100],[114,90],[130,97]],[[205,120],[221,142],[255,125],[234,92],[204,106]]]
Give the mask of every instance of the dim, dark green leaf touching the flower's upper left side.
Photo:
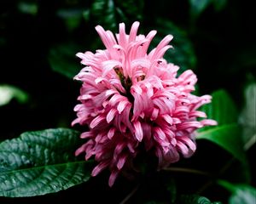
[[[48,60],[52,70],[68,78],[75,77],[81,68],[75,56],[79,50],[79,46],[73,43],[65,43],[51,48]]]

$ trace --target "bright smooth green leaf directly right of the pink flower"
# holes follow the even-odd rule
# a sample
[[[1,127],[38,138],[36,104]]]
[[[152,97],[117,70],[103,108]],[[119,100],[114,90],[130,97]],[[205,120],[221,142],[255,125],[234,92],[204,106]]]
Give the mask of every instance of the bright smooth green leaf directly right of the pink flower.
[[[212,94],[212,103],[204,105],[201,111],[218,122],[218,126],[204,127],[198,131],[196,139],[208,139],[218,144],[224,150],[242,163],[247,163],[241,140],[241,127],[237,121],[236,105],[224,90]]]

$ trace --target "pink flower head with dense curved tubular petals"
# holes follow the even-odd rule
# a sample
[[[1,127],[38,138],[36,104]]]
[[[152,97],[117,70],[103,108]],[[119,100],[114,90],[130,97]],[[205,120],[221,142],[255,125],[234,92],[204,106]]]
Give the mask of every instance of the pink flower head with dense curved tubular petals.
[[[89,131],[81,134],[86,143],[75,154],[98,161],[92,176],[108,167],[109,186],[121,171],[133,167],[141,151],[154,153],[158,169],[180,156],[191,156],[196,149],[195,130],[217,123],[198,120],[207,117],[197,109],[211,102],[211,96],[191,94],[197,81],[193,71],[177,77],[178,66],[163,59],[172,48],[168,45],[172,36],[148,52],[156,31],[137,35],[138,26],[134,22],[126,34],[121,23],[115,36],[96,26],[106,49],[77,54],[85,67],[74,77],[83,84],[73,124],[88,126]]]

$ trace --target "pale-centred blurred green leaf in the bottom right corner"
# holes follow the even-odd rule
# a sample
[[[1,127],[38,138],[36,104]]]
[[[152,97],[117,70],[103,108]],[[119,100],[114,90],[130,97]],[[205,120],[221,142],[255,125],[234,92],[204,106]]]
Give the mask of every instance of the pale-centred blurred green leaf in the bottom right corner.
[[[256,189],[246,184],[230,184],[227,181],[219,180],[218,184],[225,189],[230,190],[230,204],[255,204]]]

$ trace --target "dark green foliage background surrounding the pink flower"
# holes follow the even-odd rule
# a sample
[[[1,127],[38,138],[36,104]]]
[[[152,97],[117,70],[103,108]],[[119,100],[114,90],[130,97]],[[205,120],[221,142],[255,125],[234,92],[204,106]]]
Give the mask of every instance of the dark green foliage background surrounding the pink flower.
[[[104,48],[95,26],[116,32],[125,22],[128,32],[135,20],[139,33],[158,31],[150,48],[173,36],[165,58],[179,74],[195,72],[195,93],[213,97],[202,111],[218,126],[197,133],[195,156],[168,171],[119,175],[110,189],[108,171],[90,178],[90,162],[73,155],[79,132],[58,127],[75,118],[75,54]],[[254,21],[248,0],[0,1],[0,203],[254,204]]]

